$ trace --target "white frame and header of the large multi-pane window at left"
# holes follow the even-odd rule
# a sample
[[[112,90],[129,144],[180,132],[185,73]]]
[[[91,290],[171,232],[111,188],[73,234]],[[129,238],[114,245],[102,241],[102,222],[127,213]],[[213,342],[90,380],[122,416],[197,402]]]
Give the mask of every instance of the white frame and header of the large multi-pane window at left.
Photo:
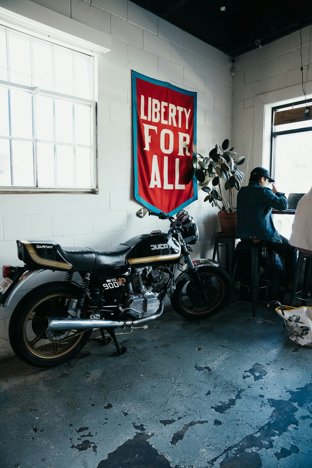
[[[34,18],[34,19],[33,19]],[[28,86],[0,81],[1,85],[8,88],[17,88],[34,94],[43,94],[50,97],[67,99],[71,102],[88,103],[92,106],[93,127],[91,128],[93,145],[93,185],[90,189],[76,187],[0,187],[0,193],[98,193],[97,179],[97,118],[96,118],[96,100],[97,100],[97,54],[106,53],[110,50],[111,38],[90,28],[80,22],[76,22],[64,15],[42,7],[29,0],[1,0],[0,1],[0,25],[15,29],[19,33],[24,33],[38,39],[61,45],[67,49],[81,52],[92,57],[91,68],[93,99],[86,100],[75,96],[62,95],[53,91],[40,88],[31,88]],[[62,30],[60,30],[60,28]],[[78,34],[77,34],[78,33]],[[77,34],[77,36],[76,36]],[[79,37],[78,37],[79,36]],[[36,134],[33,135],[36,137]],[[10,137],[11,138],[11,137]],[[31,140],[29,140],[31,141]],[[35,139],[32,139],[35,141]],[[55,143],[55,142],[52,142]],[[35,142],[36,145],[36,142]],[[35,150],[36,154],[36,150]]]

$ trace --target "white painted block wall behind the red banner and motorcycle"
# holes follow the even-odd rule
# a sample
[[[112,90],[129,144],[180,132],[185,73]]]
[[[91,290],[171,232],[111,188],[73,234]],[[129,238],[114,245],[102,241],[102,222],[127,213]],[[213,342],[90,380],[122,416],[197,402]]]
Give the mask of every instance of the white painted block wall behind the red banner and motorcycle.
[[[112,37],[98,60],[99,194],[1,194],[0,265],[20,264],[16,239],[53,239],[63,246],[109,249],[167,223],[138,219],[134,199],[131,69],[197,91],[197,148],[208,155],[215,140],[231,140],[231,59],[127,0],[35,0]],[[79,31],[77,31],[79,36]],[[189,206],[199,225],[196,257],[211,257],[216,209],[204,193]],[[50,275],[44,281],[50,280]],[[21,294],[25,293],[21,292]],[[21,298],[19,294],[18,299]],[[7,327],[13,307],[0,309],[0,355],[10,354]]]

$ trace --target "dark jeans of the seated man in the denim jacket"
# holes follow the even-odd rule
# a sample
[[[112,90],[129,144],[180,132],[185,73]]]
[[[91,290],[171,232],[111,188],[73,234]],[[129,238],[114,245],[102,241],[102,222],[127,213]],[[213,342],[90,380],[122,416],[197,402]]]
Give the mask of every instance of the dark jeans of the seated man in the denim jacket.
[[[278,255],[282,255],[285,259],[285,275],[287,283],[292,283],[295,277],[297,265],[297,249],[288,242],[286,237],[281,236],[282,243],[265,241],[265,247],[268,250],[275,250]],[[254,243],[252,239],[241,239],[244,244],[257,245],[258,249],[262,249],[262,242]]]

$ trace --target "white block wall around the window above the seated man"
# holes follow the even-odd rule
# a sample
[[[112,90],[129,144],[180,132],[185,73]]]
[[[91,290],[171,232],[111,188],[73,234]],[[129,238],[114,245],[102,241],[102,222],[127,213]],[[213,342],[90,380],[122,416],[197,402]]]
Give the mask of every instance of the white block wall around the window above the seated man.
[[[312,94],[312,27],[301,30],[305,94]],[[300,31],[237,57],[233,78],[232,146],[248,156],[248,183],[253,167],[269,164],[269,144],[263,145],[263,109],[254,103],[304,99],[301,75]],[[270,116],[268,116],[270,118]],[[269,127],[269,128],[268,128]],[[266,125],[270,132],[270,121]],[[241,166],[247,172],[247,161]],[[278,184],[278,181],[276,181]],[[291,180],[290,180],[291,183]]]

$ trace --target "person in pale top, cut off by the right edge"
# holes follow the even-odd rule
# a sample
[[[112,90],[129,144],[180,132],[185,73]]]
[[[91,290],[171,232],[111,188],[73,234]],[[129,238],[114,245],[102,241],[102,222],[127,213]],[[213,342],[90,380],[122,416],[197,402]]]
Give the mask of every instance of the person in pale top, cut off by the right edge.
[[[289,243],[299,252],[312,255],[312,187],[298,202]]]

